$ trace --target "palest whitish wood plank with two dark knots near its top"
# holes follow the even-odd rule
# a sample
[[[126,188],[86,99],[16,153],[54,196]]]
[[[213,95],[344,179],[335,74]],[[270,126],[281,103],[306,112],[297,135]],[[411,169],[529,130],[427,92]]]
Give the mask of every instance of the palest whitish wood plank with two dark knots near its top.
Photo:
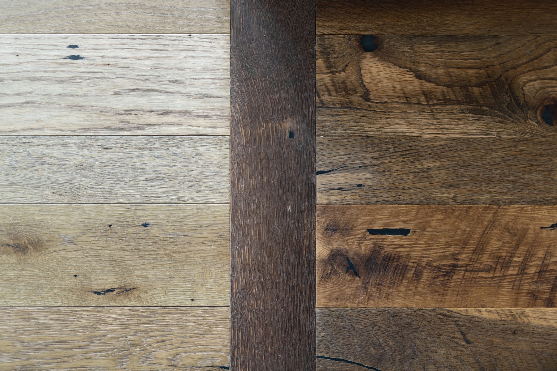
[[[0,43],[0,135],[229,135],[228,35]]]

